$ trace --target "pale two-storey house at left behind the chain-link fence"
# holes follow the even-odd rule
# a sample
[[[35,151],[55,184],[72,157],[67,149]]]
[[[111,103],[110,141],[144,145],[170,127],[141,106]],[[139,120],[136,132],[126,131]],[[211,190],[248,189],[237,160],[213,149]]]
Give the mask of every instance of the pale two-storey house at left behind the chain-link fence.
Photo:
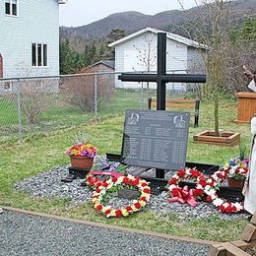
[[[0,0],[0,77],[59,75],[59,4]]]

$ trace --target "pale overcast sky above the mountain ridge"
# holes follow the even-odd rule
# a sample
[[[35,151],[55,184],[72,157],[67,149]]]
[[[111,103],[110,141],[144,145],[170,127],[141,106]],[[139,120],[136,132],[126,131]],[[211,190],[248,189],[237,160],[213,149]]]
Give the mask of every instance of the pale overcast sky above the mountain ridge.
[[[185,9],[200,0],[179,0]],[[137,11],[155,15],[168,10],[181,10],[178,0],[68,0],[60,5],[60,26],[79,27],[91,24],[110,14]]]

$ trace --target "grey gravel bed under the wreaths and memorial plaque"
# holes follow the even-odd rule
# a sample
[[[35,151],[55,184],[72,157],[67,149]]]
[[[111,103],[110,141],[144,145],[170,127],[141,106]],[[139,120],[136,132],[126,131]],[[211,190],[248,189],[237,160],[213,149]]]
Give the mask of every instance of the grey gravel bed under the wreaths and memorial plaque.
[[[100,159],[97,159],[100,160]],[[133,168],[129,167],[128,172]],[[136,167],[136,171],[140,168]],[[149,170],[144,174],[152,175],[155,170]],[[59,166],[49,171],[38,173],[35,176],[27,178],[15,185],[20,191],[29,192],[33,197],[57,197],[68,198],[70,206],[76,206],[81,203],[90,203],[92,191],[88,187],[81,187],[80,179],[75,179],[71,183],[61,182],[61,178],[68,175],[68,166]],[[171,175],[171,173],[169,174]],[[248,215],[243,214],[222,214],[217,208],[206,202],[198,202],[196,208],[187,204],[168,203],[168,195],[165,191],[160,195],[152,195],[146,209],[156,214],[178,214],[179,219],[206,219],[217,216],[224,220],[245,219]],[[113,208],[120,208],[131,204],[131,200],[117,200],[114,195],[110,199],[110,205]]]

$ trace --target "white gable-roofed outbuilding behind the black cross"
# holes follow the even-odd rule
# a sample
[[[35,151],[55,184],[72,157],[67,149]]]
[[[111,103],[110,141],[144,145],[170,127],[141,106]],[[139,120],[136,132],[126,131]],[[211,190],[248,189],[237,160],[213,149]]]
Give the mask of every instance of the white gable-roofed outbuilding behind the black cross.
[[[108,44],[115,47],[115,72],[156,72],[158,32],[153,28],[146,28],[129,34]],[[202,52],[207,46],[179,34],[166,32],[166,69],[167,73],[205,73]],[[135,82],[121,82],[115,78],[117,88],[141,88]],[[144,83],[146,84],[146,83]],[[143,85],[144,87],[146,85]],[[155,83],[150,88],[156,88]],[[185,90],[183,84],[168,83],[167,89]]]

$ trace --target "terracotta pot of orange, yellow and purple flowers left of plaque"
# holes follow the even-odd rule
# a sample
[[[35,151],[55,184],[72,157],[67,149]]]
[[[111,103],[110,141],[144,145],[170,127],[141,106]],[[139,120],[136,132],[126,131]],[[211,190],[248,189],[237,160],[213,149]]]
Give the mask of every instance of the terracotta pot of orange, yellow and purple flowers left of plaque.
[[[97,148],[90,143],[78,143],[65,151],[70,157],[71,166],[83,169],[90,169],[94,164]]]

